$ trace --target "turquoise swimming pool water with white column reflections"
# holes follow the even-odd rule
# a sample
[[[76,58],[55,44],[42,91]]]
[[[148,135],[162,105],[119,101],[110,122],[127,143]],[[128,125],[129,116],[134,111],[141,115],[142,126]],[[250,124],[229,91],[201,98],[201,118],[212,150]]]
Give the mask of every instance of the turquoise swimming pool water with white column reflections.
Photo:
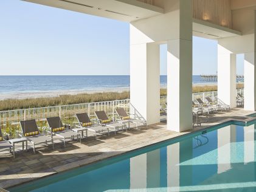
[[[255,124],[223,125],[10,191],[256,191]]]

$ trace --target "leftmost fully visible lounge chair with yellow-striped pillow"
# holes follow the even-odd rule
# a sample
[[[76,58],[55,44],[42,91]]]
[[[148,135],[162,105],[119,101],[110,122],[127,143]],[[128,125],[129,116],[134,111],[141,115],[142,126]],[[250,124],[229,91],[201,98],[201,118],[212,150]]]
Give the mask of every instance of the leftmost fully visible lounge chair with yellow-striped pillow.
[[[33,144],[33,153],[35,154],[35,145],[46,143],[52,143],[52,148],[54,149],[54,140],[52,138],[47,137],[46,135],[40,134],[38,127],[36,125],[35,119],[33,120],[25,120],[19,122],[22,129],[22,135],[27,138],[27,140]]]

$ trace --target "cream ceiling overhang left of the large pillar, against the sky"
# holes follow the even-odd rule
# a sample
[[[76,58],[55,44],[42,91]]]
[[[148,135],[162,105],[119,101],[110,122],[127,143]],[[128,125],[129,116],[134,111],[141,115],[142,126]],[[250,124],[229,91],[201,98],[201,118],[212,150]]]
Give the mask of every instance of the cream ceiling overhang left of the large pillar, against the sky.
[[[23,0],[119,21],[136,21],[161,15],[164,9],[136,0]]]

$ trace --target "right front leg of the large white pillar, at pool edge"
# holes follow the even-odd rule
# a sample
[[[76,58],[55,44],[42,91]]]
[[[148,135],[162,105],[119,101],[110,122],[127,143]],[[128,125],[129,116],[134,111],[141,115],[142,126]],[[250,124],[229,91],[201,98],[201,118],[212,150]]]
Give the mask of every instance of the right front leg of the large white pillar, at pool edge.
[[[167,128],[192,128],[192,1],[179,1],[179,35],[167,42]]]

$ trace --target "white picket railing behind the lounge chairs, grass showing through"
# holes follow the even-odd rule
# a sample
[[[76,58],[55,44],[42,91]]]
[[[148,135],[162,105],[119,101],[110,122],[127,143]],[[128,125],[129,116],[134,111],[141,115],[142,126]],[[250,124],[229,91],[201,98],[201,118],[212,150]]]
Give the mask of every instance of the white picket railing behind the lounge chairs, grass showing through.
[[[237,93],[243,95],[243,89],[237,89]],[[216,101],[218,99],[217,94],[217,91],[198,92],[193,93],[192,99],[201,98],[205,101],[206,97],[210,97],[213,101]],[[166,102],[167,97],[161,96],[160,103],[162,108],[166,108]],[[47,117],[60,116],[64,123],[74,126],[77,123],[77,119],[75,118],[75,114],[77,113],[87,112],[90,118],[94,120],[94,112],[104,110],[110,118],[114,118],[116,115],[115,109],[118,107],[125,108],[126,112],[129,113],[130,99],[0,111],[0,127],[2,132],[10,134],[10,137],[15,138],[18,137],[18,132],[21,131],[19,126],[19,121],[21,120],[36,119],[37,125],[43,128],[47,126]]]

